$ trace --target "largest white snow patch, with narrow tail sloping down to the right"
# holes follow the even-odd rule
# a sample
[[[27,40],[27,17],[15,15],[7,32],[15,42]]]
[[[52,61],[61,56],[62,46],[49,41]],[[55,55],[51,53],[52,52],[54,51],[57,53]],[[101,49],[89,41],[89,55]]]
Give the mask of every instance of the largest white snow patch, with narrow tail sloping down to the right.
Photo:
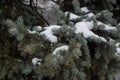
[[[82,33],[83,36],[85,38],[88,38],[88,37],[95,37],[95,38],[98,38],[98,39],[101,39],[102,41],[106,42],[106,39],[103,38],[103,37],[100,37],[98,35],[96,35],[95,33],[93,33],[92,31],[90,31],[91,29],[93,29],[93,21],[91,22],[78,22],[75,24],[75,33],[78,34],[78,33]]]

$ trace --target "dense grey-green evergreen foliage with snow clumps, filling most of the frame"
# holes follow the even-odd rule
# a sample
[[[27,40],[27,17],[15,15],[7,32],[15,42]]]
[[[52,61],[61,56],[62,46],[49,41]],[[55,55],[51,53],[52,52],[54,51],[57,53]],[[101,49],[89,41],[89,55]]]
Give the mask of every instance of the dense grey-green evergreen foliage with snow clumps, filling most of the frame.
[[[2,1],[0,80],[114,80],[120,71],[120,25],[109,10],[92,13],[74,0],[74,9],[48,26],[31,3]],[[8,1],[15,12],[4,10]],[[15,17],[23,6],[29,9]]]

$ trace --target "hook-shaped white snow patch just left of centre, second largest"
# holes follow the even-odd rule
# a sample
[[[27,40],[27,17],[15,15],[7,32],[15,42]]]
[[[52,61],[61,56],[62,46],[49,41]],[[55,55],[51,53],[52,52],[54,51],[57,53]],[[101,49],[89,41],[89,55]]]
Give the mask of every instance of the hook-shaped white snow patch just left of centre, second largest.
[[[51,43],[57,43],[57,37],[53,35],[53,30],[60,29],[61,26],[58,25],[51,25],[48,27],[45,27],[45,31],[42,31],[40,34],[45,35],[46,39],[48,39]]]

